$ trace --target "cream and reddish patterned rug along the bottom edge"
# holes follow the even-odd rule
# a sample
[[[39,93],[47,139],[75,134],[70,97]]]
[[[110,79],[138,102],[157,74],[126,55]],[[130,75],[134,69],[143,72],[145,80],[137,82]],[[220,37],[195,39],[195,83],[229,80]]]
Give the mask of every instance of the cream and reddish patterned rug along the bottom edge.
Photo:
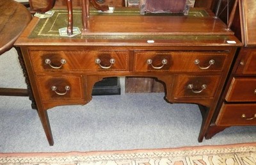
[[[0,164],[255,165],[256,143],[110,152],[0,153]]]

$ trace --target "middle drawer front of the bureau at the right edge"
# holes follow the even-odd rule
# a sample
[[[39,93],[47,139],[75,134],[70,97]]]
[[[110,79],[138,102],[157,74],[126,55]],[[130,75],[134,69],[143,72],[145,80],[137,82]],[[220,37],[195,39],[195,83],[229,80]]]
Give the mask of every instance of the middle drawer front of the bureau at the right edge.
[[[256,78],[236,78],[228,89],[227,102],[256,102]]]

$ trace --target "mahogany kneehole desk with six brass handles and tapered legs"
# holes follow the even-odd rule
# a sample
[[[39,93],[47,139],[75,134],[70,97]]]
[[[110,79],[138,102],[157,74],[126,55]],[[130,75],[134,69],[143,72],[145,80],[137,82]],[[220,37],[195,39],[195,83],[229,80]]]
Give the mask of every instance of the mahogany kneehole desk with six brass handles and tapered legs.
[[[138,8],[93,11],[83,35],[58,36],[55,25],[66,26],[61,12],[67,11],[56,10],[48,19],[34,17],[15,43],[22,50],[49,145],[54,142],[47,109],[87,104],[95,83],[120,76],[156,77],[164,84],[166,101],[205,107],[198,136],[202,141],[241,46],[234,33],[204,9],[193,9],[188,16],[143,16]],[[73,12],[74,24],[82,29],[81,11]]]

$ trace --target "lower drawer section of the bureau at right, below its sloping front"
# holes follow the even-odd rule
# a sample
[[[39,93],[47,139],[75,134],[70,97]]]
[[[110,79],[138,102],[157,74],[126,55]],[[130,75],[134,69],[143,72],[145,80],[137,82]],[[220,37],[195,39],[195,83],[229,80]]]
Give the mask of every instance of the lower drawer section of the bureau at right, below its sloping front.
[[[242,48],[206,138],[231,126],[256,125],[256,48]]]

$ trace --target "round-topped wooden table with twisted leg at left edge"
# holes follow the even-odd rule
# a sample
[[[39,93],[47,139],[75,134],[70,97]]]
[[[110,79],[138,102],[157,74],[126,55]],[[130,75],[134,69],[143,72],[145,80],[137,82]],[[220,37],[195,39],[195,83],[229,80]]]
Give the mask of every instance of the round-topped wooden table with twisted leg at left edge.
[[[31,14],[25,6],[12,0],[0,1],[0,55],[9,51],[20,33],[31,20]],[[17,48],[20,63],[20,50]],[[29,96],[27,89],[0,88],[0,95]]]

